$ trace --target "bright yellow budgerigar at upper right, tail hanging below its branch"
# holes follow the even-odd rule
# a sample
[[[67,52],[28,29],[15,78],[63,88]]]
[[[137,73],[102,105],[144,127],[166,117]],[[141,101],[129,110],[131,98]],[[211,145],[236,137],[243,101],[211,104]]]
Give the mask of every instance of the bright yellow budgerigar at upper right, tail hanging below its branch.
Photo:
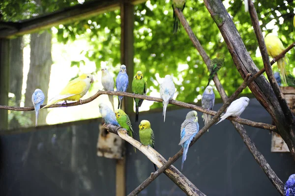
[[[285,50],[285,47],[283,46],[283,43],[281,42],[281,40],[272,33],[269,33],[266,35],[265,42],[266,42],[267,53],[272,58],[275,58],[276,56],[278,56],[280,53],[282,53]],[[287,61],[286,60],[287,60],[287,57],[284,56],[283,58],[280,58],[277,61],[278,68],[281,72],[281,76],[285,84],[287,84],[286,82]]]

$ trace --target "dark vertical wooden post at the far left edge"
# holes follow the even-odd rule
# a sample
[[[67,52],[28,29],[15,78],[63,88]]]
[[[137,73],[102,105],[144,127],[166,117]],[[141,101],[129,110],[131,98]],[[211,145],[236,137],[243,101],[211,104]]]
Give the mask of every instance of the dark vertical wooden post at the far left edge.
[[[10,41],[0,39],[0,104],[8,105]],[[8,128],[8,111],[0,110],[0,130]]]

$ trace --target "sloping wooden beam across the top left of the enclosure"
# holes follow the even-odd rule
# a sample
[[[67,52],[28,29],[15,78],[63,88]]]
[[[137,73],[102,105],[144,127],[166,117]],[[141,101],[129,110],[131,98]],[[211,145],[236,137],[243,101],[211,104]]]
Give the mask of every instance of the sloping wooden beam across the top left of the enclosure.
[[[67,7],[59,11],[37,16],[18,23],[0,23],[0,38],[11,38],[17,35],[24,35],[51,28],[59,24],[66,24],[77,20],[89,18],[91,16],[119,9],[122,0],[93,0],[83,4]],[[134,4],[145,2],[146,0],[129,0]],[[13,28],[11,28],[13,27]]]

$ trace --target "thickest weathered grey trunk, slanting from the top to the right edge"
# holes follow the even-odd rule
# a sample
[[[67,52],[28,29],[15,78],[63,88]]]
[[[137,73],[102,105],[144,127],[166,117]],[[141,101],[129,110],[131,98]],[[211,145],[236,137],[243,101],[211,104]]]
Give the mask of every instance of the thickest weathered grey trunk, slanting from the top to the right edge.
[[[227,44],[229,52],[233,57],[241,77],[245,78],[247,73],[257,73],[259,70],[247,52],[235,24],[222,4],[222,1],[204,0],[204,2]],[[285,123],[285,114],[282,111],[281,105],[276,98],[272,87],[266,78],[261,75],[255,80],[255,82],[249,85],[249,88],[261,105],[267,112],[269,112],[275,124],[279,128],[281,136],[287,142],[289,148],[292,148],[291,151],[294,150],[292,155],[295,159],[295,141],[293,142],[292,138],[289,137],[289,134],[287,133],[287,131],[289,132],[290,127],[288,127],[287,123]],[[293,134],[295,139],[295,133]]]

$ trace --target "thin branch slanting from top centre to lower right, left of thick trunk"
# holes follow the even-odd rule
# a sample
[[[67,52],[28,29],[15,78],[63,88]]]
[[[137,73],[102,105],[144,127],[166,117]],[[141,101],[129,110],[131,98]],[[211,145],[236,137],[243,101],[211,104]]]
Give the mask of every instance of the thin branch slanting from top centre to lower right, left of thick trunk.
[[[208,8],[207,8],[208,9]],[[205,50],[203,49],[202,45],[200,44],[200,42],[198,41],[197,37],[195,36],[195,34],[193,33],[192,29],[190,28],[190,26],[188,25],[185,17],[183,16],[182,12],[179,9],[175,9],[177,17],[179,18],[182,26],[185,28],[187,34],[189,35],[191,41],[193,42],[194,46],[196,47],[196,49],[199,51],[200,55],[202,56],[203,60],[205,61],[207,68],[209,70],[209,66],[210,66],[210,60],[209,57],[207,56]],[[289,49],[291,50],[291,48]],[[201,51],[201,52],[200,52]],[[256,73],[254,76],[256,76],[256,78],[258,76],[260,76],[264,71],[261,71],[261,73]],[[259,74],[259,75],[258,75]],[[254,77],[253,76],[253,77]],[[254,78],[255,79],[255,78]],[[251,82],[254,81],[253,80],[249,80],[249,84]],[[228,97],[225,93],[225,90],[223,88],[223,86],[221,85],[217,74],[215,74],[213,81],[215,83],[215,86],[221,96],[221,98],[223,99],[223,102],[226,102]],[[269,178],[269,180],[271,181],[271,183],[277,188],[277,190],[279,191],[280,194],[282,194],[282,190],[284,188],[284,185],[282,183],[282,181],[277,177],[277,175],[275,174],[275,172],[271,169],[271,167],[269,166],[269,164],[267,163],[266,159],[264,158],[264,156],[260,153],[260,151],[256,148],[255,144],[253,143],[253,141],[250,139],[250,137],[248,136],[246,130],[244,129],[244,127],[236,122],[233,122],[236,131],[240,134],[241,138],[243,139],[245,145],[247,146],[247,148],[250,150],[251,154],[253,155],[254,159],[256,160],[256,162],[259,164],[259,166],[264,170],[264,172],[266,173],[266,176]]]

